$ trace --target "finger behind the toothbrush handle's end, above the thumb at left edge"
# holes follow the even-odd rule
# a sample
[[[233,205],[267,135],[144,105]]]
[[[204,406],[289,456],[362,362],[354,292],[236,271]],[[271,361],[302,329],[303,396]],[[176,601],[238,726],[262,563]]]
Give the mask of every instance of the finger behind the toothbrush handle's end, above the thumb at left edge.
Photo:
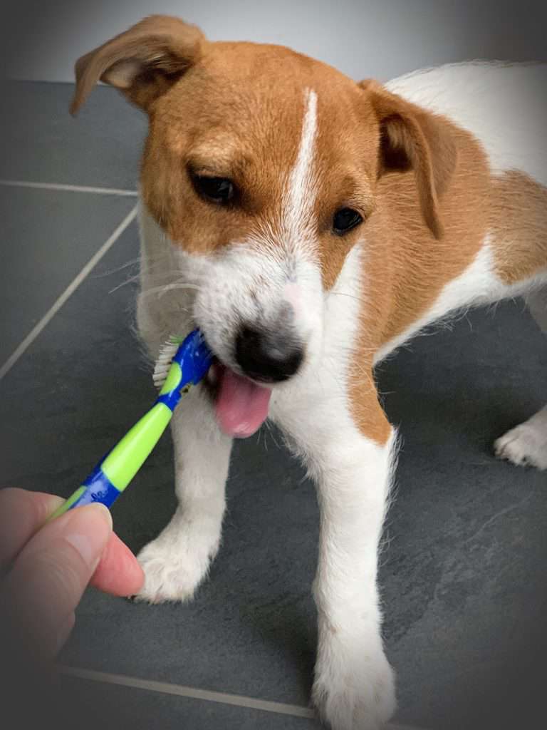
[[[0,491],[0,569],[15,558],[63,500],[53,494]]]

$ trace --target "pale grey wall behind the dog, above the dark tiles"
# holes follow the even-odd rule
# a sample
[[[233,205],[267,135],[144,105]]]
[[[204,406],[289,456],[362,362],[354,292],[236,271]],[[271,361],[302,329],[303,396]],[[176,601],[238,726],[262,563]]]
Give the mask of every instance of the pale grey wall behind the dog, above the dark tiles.
[[[288,45],[356,79],[468,58],[547,59],[547,1],[20,0],[2,11],[4,69],[71,81],[79,55],[152,12],[179,15],[211,39]]]

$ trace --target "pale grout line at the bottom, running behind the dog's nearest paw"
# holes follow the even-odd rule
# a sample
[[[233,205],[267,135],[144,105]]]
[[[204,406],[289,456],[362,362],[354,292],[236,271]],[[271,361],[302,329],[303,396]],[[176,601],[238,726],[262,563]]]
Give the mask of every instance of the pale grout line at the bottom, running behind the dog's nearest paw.
[[[142,680],[137,677],[128,677],[126,675],[114,675],[109,672],[97,672],[94,669],[79,669],[75,666],[65,666],[58,664],[57,671],[61,675],[68,677],[76,677],[82,680],[91,680],[93,682],[104,682],[106,684],[122,685],[123,687],[133,687],[135,689],[144,689],[151,692],[160,692],[162,694],[170,694],[179,697],[187,697],[188,699],[200,699],[204,702],[217,702],[218,704],[230,704],[234,707],[244,707],[249,710],[263,710],[263,712],[274,712],[277,715],[291,715],[295,718],[315,719],[316,715],[309,707],[302,707],[298,704],[284,704],[283,702],[272,702],[266,699],[255,699],[240,694],[226,694],[225,692],[215,692],[212,690],[188,687],[185,685],[176,685],[168,682],[158,682],[155,680]],[[411,728],[403,725],[389,725],[386,730],[419,730],[419,728]]]

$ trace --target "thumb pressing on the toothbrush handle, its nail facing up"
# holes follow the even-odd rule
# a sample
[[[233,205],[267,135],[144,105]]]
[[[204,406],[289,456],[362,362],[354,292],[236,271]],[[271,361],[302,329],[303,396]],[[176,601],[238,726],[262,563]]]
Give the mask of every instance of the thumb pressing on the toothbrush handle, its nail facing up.
[[[111,534],[110,512],[102,504],[88,504],[47,523],[28,542],[3,586],[23,650],[39,658],[55,656],[58,635]]]

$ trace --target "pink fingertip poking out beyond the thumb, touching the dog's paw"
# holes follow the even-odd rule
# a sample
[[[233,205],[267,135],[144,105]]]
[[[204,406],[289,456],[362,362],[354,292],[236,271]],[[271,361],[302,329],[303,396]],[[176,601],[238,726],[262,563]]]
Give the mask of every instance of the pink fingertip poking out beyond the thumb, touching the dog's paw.
[[[112,533],[104,548],[91,585],[114,596],[133,596],[144,583],[144,573],[124,542]]]

